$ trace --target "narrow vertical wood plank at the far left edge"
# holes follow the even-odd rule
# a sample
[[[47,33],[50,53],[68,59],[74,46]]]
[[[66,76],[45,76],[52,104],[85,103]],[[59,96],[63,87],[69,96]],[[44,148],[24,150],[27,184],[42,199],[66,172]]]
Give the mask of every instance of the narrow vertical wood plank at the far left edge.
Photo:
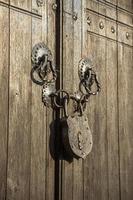
[[[8,134],[8,73],[9,73],[9,10],[0,6],[0,199],[5,199],[7,134]]]

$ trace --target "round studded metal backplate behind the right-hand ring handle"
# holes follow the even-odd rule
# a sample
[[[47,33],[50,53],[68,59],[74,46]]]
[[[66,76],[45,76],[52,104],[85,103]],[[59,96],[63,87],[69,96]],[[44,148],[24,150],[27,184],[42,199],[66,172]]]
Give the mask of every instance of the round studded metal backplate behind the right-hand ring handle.
[[[79,78],[80,80],[88,79],[90,69],[92,69],[93,64],[92,61],[88,58],[82,58],[79,61]]]

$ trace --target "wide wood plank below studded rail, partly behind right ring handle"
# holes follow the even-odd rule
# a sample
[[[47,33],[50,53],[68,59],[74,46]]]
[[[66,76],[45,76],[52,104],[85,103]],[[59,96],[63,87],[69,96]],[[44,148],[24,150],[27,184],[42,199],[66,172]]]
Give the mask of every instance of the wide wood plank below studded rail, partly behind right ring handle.
[[[106,129],[106,40],[88,34],[88,57],[93,58],[100,77],[102,92],[91,97],[88,103],[88,119],[93,136],[92,152],[84,161],[84,199],[107,200],[107,129]]]

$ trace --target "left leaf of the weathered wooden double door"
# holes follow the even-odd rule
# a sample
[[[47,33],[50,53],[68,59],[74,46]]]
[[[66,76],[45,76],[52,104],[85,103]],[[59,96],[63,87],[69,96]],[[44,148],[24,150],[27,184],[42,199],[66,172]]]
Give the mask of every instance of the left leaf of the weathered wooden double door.
[[[0,1],[0,200],[54,199],[49,153],[53,112],[32,84],[31,50],[44,41],[55,54],[53,0]]]

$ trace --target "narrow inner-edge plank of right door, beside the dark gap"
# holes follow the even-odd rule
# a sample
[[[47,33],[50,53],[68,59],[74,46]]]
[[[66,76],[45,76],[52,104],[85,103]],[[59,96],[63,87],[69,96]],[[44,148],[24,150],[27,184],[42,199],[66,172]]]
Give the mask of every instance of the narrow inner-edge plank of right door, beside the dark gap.
[[[73,12],[71,0],[63,1],[63,88],[73,91],[73,57],[74,57],[74,26],[73,18],[67,12]],[[71,107],[71,106],[70,106]],[[71,108],[68,108],[68,111]],[[68,161],[62,163],[62,199],[73,199],[73,164]]]

